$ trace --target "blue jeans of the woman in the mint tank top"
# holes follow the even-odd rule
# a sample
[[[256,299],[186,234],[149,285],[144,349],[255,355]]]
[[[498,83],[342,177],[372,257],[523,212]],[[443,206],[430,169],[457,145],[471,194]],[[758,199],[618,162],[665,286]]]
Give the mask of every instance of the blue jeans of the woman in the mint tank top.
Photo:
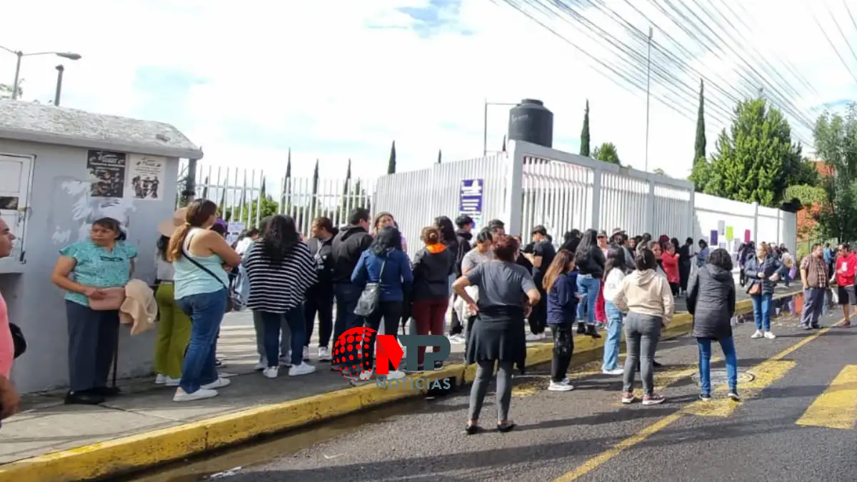
[[[182,380],[178,386],[192,394],[201,385],[218,379],[214,353],[226,310],[226,290],[191,294],[177,299],[176,303],[190,317],[190,343],[184,353]]]

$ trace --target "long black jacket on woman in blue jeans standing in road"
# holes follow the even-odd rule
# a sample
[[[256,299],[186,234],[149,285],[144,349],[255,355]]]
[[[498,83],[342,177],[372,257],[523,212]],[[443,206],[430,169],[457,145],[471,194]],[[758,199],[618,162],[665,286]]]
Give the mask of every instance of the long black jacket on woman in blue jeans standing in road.
[[[732,273],[706,264],[687,285],[687,310],[693,316],[691,336],[720,340],[732,336],[735,282]]]

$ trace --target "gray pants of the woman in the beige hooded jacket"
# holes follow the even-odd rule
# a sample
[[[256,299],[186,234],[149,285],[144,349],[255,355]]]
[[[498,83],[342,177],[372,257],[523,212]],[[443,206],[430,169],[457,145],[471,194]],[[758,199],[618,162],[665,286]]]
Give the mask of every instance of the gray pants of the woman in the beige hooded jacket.
[[[628,352],[625,358],[622,391],[633,390],[634,373],[637,372],[639,360],[643,391],[645,395],[655,393],[655,366],[652,362],[655,360],[657,342],[661,340],[662,321],[661,316],[642,315],[633,311],[625,317],[625,344]]]

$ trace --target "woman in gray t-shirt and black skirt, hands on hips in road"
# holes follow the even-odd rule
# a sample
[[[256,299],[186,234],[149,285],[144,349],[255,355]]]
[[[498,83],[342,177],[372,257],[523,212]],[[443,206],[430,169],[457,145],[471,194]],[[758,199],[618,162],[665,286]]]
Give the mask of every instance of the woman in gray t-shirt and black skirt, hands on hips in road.
[[[527,354],[524,317],[530,307],[539,302],[539,292],[532,275],[515,263],[520,244],[506,236],[494,238],[494,260],[484,262],[465,276],[458,278],[452,288],[476,313],[476,323],[470,328],[467,343],[467,363],[476,363],[476,379],[470,389],[470,417],[467,434],[479,430],[479,413],[488,392],[488,383],[497,370],[497,430],[511,431],[515,424],[509,420],[512,401],[512,369],[524,371]],[[479,287],[479,301],[464,290]]]

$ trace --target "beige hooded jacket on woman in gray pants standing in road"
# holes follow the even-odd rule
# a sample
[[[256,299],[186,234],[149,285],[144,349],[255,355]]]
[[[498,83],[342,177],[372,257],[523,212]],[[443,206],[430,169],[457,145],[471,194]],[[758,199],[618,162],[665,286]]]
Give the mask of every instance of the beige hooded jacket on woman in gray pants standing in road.
[[[614,295],[613,304],[621,311],[661,316],[664,323],[670,322],[675,312],[667,279],[651,269],[628,274]]]

